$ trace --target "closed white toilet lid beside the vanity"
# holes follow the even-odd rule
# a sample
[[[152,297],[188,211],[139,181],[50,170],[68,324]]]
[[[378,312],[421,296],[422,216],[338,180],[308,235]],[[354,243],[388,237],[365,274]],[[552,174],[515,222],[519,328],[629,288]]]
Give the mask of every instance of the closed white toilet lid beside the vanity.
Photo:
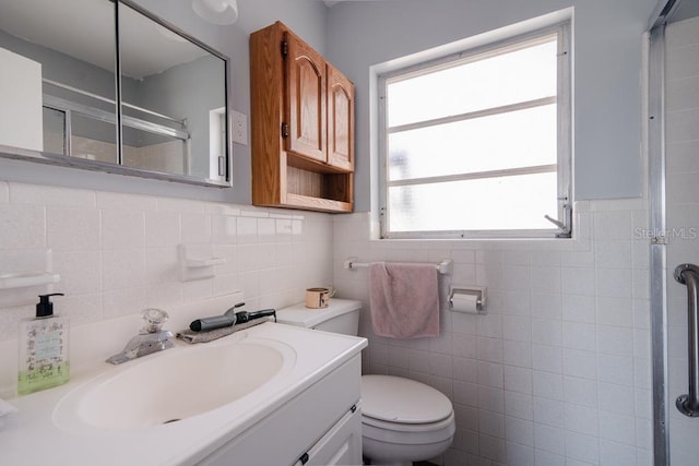
[[[391,375],[362,377],[362,414],[403,423],[437,422],[452,413],[441,392],[414,380]]]

